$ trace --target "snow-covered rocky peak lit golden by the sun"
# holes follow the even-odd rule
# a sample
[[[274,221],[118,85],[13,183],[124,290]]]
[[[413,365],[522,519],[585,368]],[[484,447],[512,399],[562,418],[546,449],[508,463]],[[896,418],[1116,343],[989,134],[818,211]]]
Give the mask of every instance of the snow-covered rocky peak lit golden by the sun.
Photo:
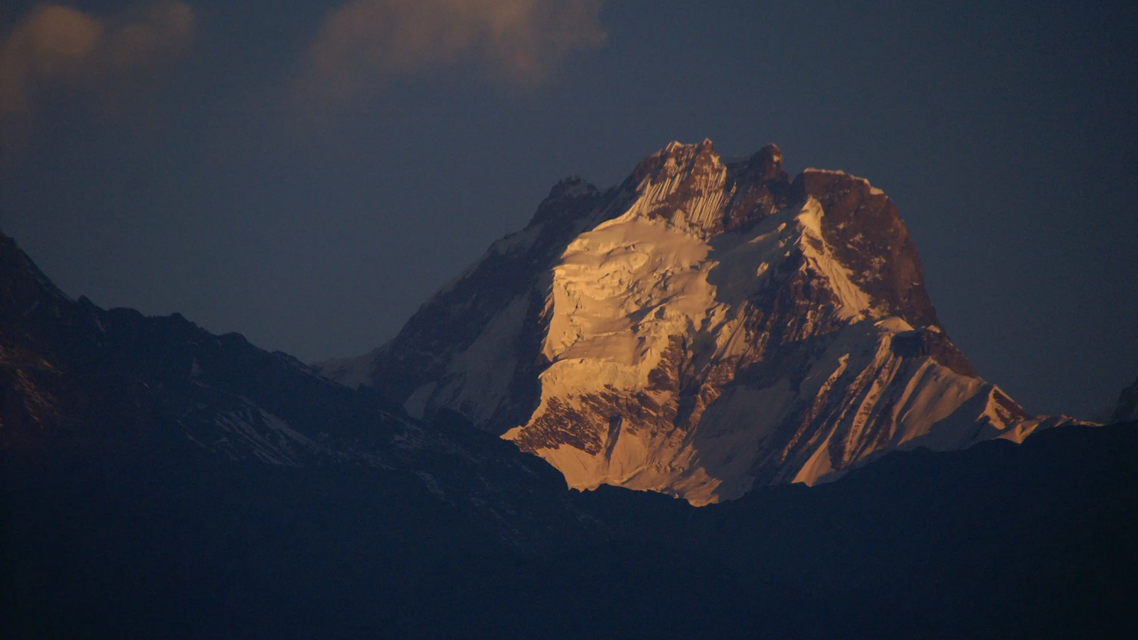
[[[695,504],[1063,421],[976,376],[884,192],[708,140],[607,190],[562,181],[390,343],[319,367],[415,417],[457,412],[570,486]]]

